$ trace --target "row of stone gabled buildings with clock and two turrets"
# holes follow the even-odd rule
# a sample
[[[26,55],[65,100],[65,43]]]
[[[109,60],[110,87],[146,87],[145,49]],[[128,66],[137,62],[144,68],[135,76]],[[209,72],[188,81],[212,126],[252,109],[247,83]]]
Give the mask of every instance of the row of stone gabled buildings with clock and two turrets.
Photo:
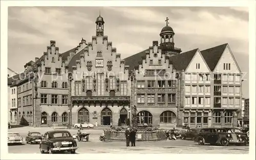
[[[104,35],[101,16],[91,42],[82,39],[60,54],[50,41],[44,55],[24,66],[27,78],[14,81],[17,121],[23,116],[35,126],[117,125],[119,119],[126,124],[135,105],[139,123],[237,125],[241,70],[228,44],[182,52],[167,21],[160,44],[153,41],[125,59]]]

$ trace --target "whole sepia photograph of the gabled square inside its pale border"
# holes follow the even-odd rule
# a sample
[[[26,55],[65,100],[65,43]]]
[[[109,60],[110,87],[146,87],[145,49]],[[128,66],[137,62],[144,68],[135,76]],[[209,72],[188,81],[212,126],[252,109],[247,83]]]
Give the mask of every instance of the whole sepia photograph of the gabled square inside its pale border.
[[[5,154],[249,154],[248,4],[98,5],[5,9]]]

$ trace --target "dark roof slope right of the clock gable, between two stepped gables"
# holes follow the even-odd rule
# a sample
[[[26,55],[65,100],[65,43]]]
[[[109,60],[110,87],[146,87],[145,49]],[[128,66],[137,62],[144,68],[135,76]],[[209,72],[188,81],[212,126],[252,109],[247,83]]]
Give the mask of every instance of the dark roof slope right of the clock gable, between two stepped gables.
[[[123,59],[125,62],[125,66],[129,66],[129,72],[134,70],[135,67],[139,66],[139,62],[142,62],[142,57],[146,57],[147,51],[150,51],[150,48],[145,49],[139,52],[138,54]]]

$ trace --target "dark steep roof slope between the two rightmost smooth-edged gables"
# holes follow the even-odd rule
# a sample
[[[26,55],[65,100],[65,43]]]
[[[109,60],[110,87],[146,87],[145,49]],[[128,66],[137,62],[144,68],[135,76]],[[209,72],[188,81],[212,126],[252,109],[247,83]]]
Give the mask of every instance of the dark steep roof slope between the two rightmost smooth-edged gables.
[[[227,43],[201,51],[201,54],[211,71],[215,69],[226,46]]]

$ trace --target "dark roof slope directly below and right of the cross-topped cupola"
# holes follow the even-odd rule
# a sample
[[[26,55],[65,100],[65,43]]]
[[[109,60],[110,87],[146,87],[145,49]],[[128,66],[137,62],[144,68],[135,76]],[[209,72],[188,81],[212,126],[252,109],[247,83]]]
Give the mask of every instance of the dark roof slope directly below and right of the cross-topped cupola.
[[[176,56],[171,56],[169,57],[169,63],[173,64],[174,68],[179,71],[185,70],[189,65],[190,61],[193,59],[197,50],[198,48],[183,52]]]

